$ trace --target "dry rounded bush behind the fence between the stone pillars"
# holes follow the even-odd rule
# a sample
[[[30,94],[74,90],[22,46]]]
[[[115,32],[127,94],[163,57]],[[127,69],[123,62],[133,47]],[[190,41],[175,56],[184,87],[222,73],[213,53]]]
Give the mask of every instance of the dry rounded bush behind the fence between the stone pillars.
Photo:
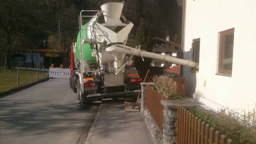
[[[157,89],[159,94],[161,94],[166,99],[172,99],[176,96],[176,82],[170,76],[154,76],[153,82],[156,83],[154,87]]]

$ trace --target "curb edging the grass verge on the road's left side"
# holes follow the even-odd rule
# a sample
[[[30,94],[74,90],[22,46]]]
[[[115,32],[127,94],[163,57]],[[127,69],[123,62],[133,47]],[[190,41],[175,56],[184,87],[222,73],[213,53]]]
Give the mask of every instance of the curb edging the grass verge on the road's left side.
[[[25,90],[31,86],[34,86],[38,83],[41,83],[41,82],[44,82],[44,81],[48,81],[49,80],[49,77],[46,77],[44,78],[43,80],[40,80],[40,81],[37,81],[37,82],[33,82],[33,83],[30,83],[28,85],[24,85],[24,86],[21,86],[21,87],[17,87],[16,89],[11,89],[11,90],[8,90],[8,91],[4,91],[0,94],[0,99],[3,98],[3,97],[6,97],[12,93],[15,93],[15,92],[18,92],[18,91],[21,91],[21,90]]]

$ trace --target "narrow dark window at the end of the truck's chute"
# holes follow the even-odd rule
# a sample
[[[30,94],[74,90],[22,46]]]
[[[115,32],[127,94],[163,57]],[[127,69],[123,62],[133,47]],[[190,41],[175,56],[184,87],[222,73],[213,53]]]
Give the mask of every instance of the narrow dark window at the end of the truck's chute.
[[[193,50],[193,55],[192,55],[193,62],[199,63],[200,38],[193,40],[192,50]],[[190,70],[192,72],[195,72],[195,71],[198,71],[198,68],[191,68]]]

